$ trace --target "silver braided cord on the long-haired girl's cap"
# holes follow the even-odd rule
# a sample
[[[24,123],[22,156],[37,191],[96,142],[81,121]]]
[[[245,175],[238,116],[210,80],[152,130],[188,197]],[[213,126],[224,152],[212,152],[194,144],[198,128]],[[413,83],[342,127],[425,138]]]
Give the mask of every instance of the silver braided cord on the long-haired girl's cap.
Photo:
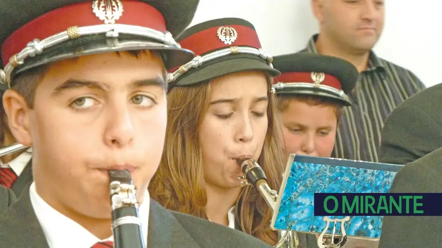
[[[269,66],[272,66],[273,57],[270,55],[267,55],[262,48],[256,49],[252,47],[240,47],[240,46],[233,46],[229,48],[224,48],[221,50],[217,50],[214,52],[207,53],[203,56],[196,56],[194,57],[190,62],[180,66],[176,71],[173,73],[168,74],[168,82],[171,83],[175,81],[177,78],[179,78],[181,75],[186,74],[190,69],[192,68],[198,68],[203,63],[214,60],[229,54],[237,54],[237,53],[246,53],[246,54],[252,54],[261,57],[264,59]]]

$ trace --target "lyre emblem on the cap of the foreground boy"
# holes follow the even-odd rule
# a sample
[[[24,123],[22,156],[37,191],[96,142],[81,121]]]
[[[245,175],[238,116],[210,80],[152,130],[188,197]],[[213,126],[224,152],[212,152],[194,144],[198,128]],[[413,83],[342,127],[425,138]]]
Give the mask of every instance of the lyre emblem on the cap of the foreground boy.
[[[92,11],[105,24],[115,24],[123,15],[123,3],[121,0],[94,0]]]

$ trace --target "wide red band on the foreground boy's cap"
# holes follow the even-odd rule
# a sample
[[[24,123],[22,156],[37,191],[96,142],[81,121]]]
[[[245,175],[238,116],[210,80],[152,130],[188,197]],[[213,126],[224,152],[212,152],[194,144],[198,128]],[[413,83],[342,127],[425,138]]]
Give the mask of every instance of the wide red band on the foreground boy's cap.
[[[123,13],[116,24],[149,27],[166,31],[166,21],[155,7],[138,0],[123,1]],[[5,66],[9,58],[23,50],[34,39],[43,40],[66,31],[71,26],[104,25],[92,12],[92,2],[75,3],[48,12],[12,33],[1,46],[1,58]]]

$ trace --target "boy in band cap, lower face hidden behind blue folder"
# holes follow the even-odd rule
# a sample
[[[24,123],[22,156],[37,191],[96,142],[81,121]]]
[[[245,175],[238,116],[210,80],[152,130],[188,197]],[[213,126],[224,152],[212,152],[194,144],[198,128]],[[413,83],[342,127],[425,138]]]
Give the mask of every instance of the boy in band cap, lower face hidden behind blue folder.
[[[330,157],[357,69],[343,59],[306,52],[276,56],[273,66],[281,72],[273,88],[285,155]]]

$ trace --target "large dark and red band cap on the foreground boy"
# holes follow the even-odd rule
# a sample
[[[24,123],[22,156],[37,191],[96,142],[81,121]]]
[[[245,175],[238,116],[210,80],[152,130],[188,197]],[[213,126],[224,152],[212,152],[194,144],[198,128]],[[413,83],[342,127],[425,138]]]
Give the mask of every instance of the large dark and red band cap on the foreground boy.
[[[194,54],[172,35],[191,23],[198,3],[1,0],[0,82],[8,85],[14,74],[47,63],[109,51],[159,50],[167,70],[182,65]]]

